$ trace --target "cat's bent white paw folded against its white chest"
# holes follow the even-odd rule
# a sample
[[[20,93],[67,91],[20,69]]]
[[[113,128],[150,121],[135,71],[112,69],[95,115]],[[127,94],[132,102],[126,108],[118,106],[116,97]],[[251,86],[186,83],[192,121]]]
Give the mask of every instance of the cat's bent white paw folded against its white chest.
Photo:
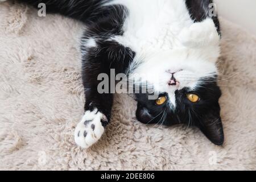
[[[186,47],[204,47],[218,44],[220,37],[212,19],[193,23],[179,34],[180,42]]]

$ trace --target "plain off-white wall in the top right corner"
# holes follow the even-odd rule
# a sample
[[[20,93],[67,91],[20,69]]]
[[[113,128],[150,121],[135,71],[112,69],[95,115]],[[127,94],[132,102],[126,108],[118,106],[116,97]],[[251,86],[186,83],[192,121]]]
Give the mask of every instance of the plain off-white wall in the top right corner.
[[[214,0],[218,15],[256,35],[256,0]]]

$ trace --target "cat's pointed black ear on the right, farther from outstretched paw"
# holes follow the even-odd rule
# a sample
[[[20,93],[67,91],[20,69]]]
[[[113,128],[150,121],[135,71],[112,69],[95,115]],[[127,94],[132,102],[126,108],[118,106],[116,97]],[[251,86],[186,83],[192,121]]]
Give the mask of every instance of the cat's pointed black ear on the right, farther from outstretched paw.
[[[204,114],[202,120],[197,123],[199,129],[214,144],[222,145],[224,143],[224,132],[220,117],[220,106],[214,106]]]

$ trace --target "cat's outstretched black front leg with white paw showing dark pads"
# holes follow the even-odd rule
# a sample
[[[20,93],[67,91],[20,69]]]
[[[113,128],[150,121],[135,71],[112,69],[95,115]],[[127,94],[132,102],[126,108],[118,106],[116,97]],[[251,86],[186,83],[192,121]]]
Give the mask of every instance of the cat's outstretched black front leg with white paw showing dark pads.
[[[82,42],[82,81],[86,102],[84,117],[75,131],[75,141],[79,146],[88,148],[101,138],[111,118],[115,78],[119,73],[126,73],[134,56],[135,52],[130,48],[114,41],[89,38]]]

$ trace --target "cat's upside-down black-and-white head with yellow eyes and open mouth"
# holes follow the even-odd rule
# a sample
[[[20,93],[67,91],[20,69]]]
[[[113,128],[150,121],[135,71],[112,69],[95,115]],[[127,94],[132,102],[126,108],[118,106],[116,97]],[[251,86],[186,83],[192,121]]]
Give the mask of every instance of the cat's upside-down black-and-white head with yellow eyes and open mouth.
[[[149,93],[136,94],[139,121],[197,126],[214,144],[224,142],[215,64],[218,49],[204,51],[180,49],[155,53],[135,69],[136,76],[147,82],[156,95],[152,99]]]

